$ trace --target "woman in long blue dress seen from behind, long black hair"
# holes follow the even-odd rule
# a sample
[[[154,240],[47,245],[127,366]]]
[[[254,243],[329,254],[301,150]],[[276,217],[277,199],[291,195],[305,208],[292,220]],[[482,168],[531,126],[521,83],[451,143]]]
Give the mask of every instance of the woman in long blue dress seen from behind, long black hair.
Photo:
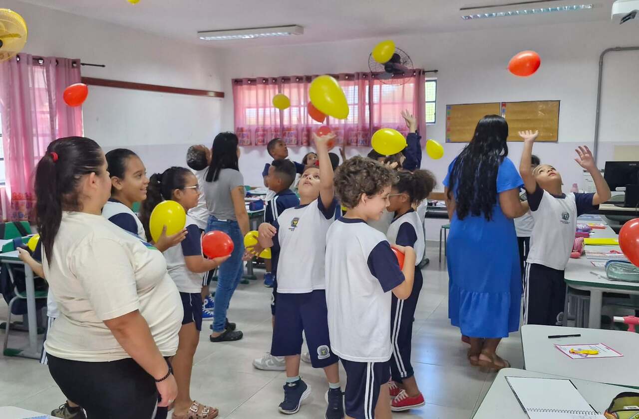
[[[497,346],[519,328],[521,272],[512,219],[527,210],[519,196],[523,181],[507,158],[507,137],[504,118],[482,118],[443,182],[451,219],[450,323],[470,338],[470,364],[493,370],[509,366]]]

